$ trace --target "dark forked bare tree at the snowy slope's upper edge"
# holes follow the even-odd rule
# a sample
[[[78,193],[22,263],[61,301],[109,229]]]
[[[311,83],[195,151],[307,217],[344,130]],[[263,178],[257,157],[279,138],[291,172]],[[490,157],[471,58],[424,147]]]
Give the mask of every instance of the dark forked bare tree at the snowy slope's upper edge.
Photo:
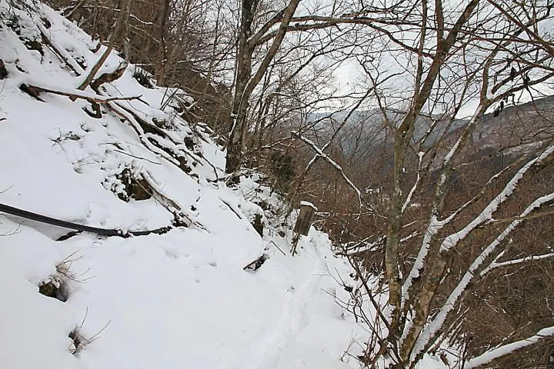
[[[346,17],[336,17],[345,4],[335,3],[332,6],[320,8],[315,6],[310,9],[311,12],[328,13],[329,15],[301,15],[295,17],[296,8],[300,0],[289,0],[285,6],[273,9],[267,7],[260,0],[244,0],[241,2],[239,32],[238,32],[238,50],[234,79],[234,92],[232,103],[232,124],[229,127],[229,140],[227,143],[227,163],[225,171],[234,173],[240,167],[243,157],[244,135],[248,131],[250,124],[248,119],[248,110],[253,92],[270,69],[275,61],[276,55],[281,48],[281,44],[288,33],[310,32],[312,30],[326,29],[336,27],[339,23],[357,24],[353,20],[353,15]],[[307,2],[304,2],[307,7]],[[307,9],[307,8],[306,8]],[[322,41],[322,38],[325,41]],[[330,42],[325,36],[320,38],[320,45]],[[332,39],[337,36],[333,35]],[[340,38],[340,37],[338,37]],[[319,55],[331,53],[330,50],[337,45],[331,42],[329,49],[314,45],[315,55],[305,56],[300,61],[299,71],[310,64],[314,58]],[[340,49],[341,46],[338,46]],[[293,49],[295,49],[293,47]],[[298,72],[293,72],[289,77],[293,78]],[[288,78],[286,78],[288,80]],[[286,82],[285,82],[286,85]],[[278,95],[273,95],[278,96]],[[273,98],[272,97],[272,98]],[[267,106],[267,105],[266,105]]]

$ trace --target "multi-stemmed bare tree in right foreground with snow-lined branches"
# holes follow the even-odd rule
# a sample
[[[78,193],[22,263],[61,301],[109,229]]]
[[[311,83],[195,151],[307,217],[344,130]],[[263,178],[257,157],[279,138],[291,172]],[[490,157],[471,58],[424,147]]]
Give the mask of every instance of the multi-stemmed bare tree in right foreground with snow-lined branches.
[[[541,117],[534,128],[524,134],[515,125],[505,127],[499,133],[502,147],[492,154],[472,145],[478,132],[486,132],[486,113],[499,116],[522,96],[540,96],[543,82],[554,76],[552,40],[543,28],[551,16],[549,6],[538,2],[514,7],[470,0],[452,7],[417,0],[392,9],[372,3],[351,18],[378,35],[366,45],[370,51],[362,64],[394,149],[383,245],[388,301],[372,304],[380,313],[378,323],[371,321],[374,345],[364,361],[413,368],[445,337],[460,334],[464,319],[456,314],[470,298],[471,285],[495,269],[551,257],[547,249],[507,257],[512,235],[531,220],[551,216],[554,193],[530,183],[550,175],[545,168],[552,160],[554,136],[543,128],[551,116],[531,105],[527,110]],[[381,84],[398,71],[402,78]],[[469,118],[461,119],[465,116]],[[510,153],[505,167],[468,188],[468,194],[449,197],[465,167],[495,157],[501,148]],[[336,164],[320,148],[314,150]],[[428,202],[421,214],[424,222],[409,216],[416,199]],[[459,255],[465,259],[456,262]],[[359,263],[357,258],[353,262]],[[367,295],[372,294],[368,288]],[[476,367],[553,334],[543,326],[525,341],[525,332],[505,337],[515,340],[511,344],[466,355],[459,365],[467,361],[465,368]]]

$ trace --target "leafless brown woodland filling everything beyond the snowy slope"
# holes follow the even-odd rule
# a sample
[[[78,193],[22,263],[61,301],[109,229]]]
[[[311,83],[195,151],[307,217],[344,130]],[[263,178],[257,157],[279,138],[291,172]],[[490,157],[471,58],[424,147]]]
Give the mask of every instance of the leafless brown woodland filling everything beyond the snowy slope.
[[[554,367],[550,0],[48,4],[191,95],[229,185],[261,171],[275,216],[318,207],[357,272],[338,303],[370,331],[363,366],[449,346],[450,367]]]

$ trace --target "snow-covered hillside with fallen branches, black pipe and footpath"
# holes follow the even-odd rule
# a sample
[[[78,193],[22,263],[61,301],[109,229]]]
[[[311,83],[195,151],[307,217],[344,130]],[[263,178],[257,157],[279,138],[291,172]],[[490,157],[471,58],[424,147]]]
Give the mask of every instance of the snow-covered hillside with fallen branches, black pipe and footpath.
[[[289,228],[279,236],[270,216],[279,199],[257,175],[232,189],[219,180],[222,148],[177,113],[186,96],[141,86],[127,66],[101,98],[140,99],[91,117],[100,96],[75,87],[105,48],[91,51],[90,37],[47,7],[2,1],[0,18],[0,204],[123,231],[174,225],[57,241],[69,230],[0,214],[1,368],[357,367],[344,352],[364,332],[335,302],[348,299],[347,262],[314,228],[290,256]],[[112,53],[97,75],[121,63]],[[42,101],[25,86],[43,89]],[[264,253],[255,273],[243,270]],[[66,302],[39,293],[48,282]]]

